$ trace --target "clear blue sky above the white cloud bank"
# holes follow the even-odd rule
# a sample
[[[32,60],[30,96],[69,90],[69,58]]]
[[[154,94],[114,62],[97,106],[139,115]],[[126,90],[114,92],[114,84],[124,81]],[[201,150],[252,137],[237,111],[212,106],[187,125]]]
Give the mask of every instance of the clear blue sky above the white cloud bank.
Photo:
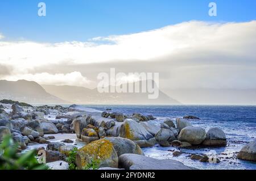
[[[47,16],[38,16],[45,2]],[[217,3],[217,17],[208,15]],[[92,37],[141,32],[189,20],[248,22],[255,0],[1,0],[0,33],[5,40],[86,41]]]

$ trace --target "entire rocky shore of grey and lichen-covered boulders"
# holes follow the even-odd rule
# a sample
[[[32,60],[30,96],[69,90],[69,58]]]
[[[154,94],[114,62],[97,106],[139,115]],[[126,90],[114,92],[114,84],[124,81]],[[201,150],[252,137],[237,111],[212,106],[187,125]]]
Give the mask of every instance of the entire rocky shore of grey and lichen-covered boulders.
[[[133,113],[125,115],[101,112],[72,105],[31,106],[26,103],[0,102],[0,141],[11,135],[19,144],[20,152],[27,146],[38,145],[38,151],[46,151],[46,162],[51,169],[69,169],[67,159],[76,151],[74,163],[84,169],[97,161],[101,169],[193,169],[172,159],[155,159],[144,156],[141,148],[155,145],[176,148],[225,147],[225,133],[221,128],[194,127],[190,120],[199,117],[187,115],[176,123],[167,119],[160,126],[151,123],[153,115]],[[53,141],[54,134],[76,134],[76,140]],[[51,134],[51,136],[47,136]],[[78,146],[81,143],[82,146]],[[42,146],[40,146],[42,145]],[[46,146],[45,146],[46,145]],[[256,161],[255,141],[244,146],[237,158]],[[181,151],[174,151],[179,156]],[[199,162],[219,163],[220,159],[207,155],[191,155]]]

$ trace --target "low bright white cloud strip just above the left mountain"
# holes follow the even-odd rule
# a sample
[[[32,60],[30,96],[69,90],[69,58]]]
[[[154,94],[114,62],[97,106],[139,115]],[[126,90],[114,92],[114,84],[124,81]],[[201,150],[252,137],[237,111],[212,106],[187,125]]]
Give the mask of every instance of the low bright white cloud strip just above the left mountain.
[[[83,77],[80,72],[74,71],[68,74],[18,74],[9,75],[5,79],[9,81],[17,81],[19,79],[26,79],[27,81],[35,81],[42,85],[69,85],[69,86],[88,86],[91,81],[88,78]]]

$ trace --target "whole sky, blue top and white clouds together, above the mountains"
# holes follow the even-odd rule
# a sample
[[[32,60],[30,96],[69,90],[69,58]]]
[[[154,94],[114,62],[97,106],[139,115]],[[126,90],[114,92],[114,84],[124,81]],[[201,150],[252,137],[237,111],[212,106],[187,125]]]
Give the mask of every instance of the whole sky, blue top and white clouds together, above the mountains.
[[[256,89],[255,37],[253,0],[1,0],[0,79],[94,88],[115,68],[162,90]]]

